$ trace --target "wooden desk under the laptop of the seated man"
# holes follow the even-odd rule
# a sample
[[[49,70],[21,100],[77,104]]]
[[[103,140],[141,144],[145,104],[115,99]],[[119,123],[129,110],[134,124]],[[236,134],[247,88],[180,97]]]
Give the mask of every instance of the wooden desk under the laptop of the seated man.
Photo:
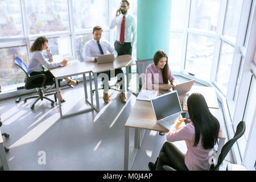
[[[85,67],[89,67],[91,69],[94,76],[96,106],[93,105],[93,107],[96,111],[100,111],[100,104],[98,100],[97,73],[110,71],[110,76],[111,76],[112,71],[114,71],[115,69],[126,67],[126,78],[127,78],[126,86],[128,89],[129,81],[130,81],[129,67],[135,64],[136,64],[135,61],[132,59],[130,55],[117,56],[115,57],[115,60],[113,61],[113,63],[105,63],[105,64],[97,64],[95,62],[84,63]]]

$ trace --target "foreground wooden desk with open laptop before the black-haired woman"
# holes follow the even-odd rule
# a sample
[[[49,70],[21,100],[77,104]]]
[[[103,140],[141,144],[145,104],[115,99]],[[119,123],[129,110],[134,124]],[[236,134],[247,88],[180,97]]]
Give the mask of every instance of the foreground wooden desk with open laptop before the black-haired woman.
[[[182,103],[182,101],[181,101]],[[181,107],[182,108],[182,107]],[[210,112],[216,116],[216,118],[220,121],[220,110],[219,109],[210,109]],[[134,148],[136,148],[134,153],[134,158],[131,161],[131,165],[129,168],[129,133],[130,128],[135,129],[135,137],[134,137]],[[159,123],[156,123],[154,113],[152,110],[151,102],[149,101],[136,101],[131,113],[125,123],[125,156],[124,156],[124,170],[131,169],[134,163],[135,156],[137,154],[138,148],[141,146],[141,142],[143,139],[143,135],[141,137],[141,130],[154,130],[154,131],[163,131],[168,133],[169,130],[165,129]],[[218,138],[220,140],[218,145],[217,157],[220,155],[220,151],[222,146],[225,143],[225,133],[220,131]]]

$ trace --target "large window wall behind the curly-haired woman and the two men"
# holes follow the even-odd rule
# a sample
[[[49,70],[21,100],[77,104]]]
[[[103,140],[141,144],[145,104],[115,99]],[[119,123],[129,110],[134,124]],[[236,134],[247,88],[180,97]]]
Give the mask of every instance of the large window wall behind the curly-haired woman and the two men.
[[[92,39],[92,28],[101,26],[102,39],[114,43],[109,24],[120,6],[115,0],[1,0],[0,68],[2,93],[24,85],[24,73],[14,57],[29,64],[29,49],[38,36],[46,36],[54,56],[72,55],[83,59],[84,44]],[[137,19],[137,0],[130,0],[129,14]],[[133,49],[136,56],[136,45]]]

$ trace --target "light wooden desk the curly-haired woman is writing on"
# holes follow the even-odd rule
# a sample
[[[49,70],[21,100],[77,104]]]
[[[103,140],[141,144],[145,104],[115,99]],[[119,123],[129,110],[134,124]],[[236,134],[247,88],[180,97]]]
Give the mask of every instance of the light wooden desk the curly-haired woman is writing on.
[[[93,67],[90,67],[88,65],[85,65],[84,63],[80,63],[79,60],[72,60],[68,61],[68,64],[65,65],[64,67],[57,67],[57,68],[52,68],[49,69],[49,71],[52,73],[52,75],[55,77],[55,82],[56,82],[56,89],[59,91],[59,84],[58,84],[58,79],[61,78],[66,78],[70,76],[76,76],[76,75],[83,75],[84,79],[84,92],[85,92],[85,100],[88,100],[88,95],[87,95],[87,88],[86,88],[86,78],[85,78],[85,73],[89,73],[89,79],[90,79],[90,98],[91,102],[89,103],[91,105],[91,108],[84,109],[81,111],[77,111],[75,113],[71,114],[63,114],[61,110],[61,102],[60,102],[60,93],[57,92],[58,96],[58,101],[59,101],[59,109],[60,109],[60,117],[68,117],[70,115],[75,115],[79,113],[84,113],[85,111],[91,111],[93,110],[93,96],[92,96],[92,77],[90,75],[90,72]]]

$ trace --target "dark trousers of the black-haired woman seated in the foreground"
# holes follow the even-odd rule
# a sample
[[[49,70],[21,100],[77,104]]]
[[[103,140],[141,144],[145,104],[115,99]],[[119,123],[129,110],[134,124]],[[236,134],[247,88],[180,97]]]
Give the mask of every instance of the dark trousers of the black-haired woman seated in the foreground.
[[[163,166],[170,166],[177,171],[188,171],[185,155],[172,143],[165,142],[155,162],[155,170],[163,171]]]

